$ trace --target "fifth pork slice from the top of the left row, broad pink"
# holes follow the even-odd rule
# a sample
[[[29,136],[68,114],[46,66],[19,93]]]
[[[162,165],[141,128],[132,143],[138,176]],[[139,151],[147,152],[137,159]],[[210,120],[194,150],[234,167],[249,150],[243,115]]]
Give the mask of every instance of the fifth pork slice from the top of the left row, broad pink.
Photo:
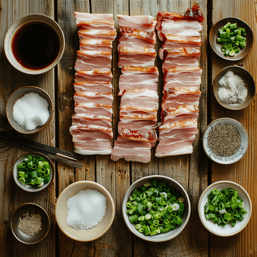
[[[77,51],[75,70],[96,70],[112,68],[112,52]]]

